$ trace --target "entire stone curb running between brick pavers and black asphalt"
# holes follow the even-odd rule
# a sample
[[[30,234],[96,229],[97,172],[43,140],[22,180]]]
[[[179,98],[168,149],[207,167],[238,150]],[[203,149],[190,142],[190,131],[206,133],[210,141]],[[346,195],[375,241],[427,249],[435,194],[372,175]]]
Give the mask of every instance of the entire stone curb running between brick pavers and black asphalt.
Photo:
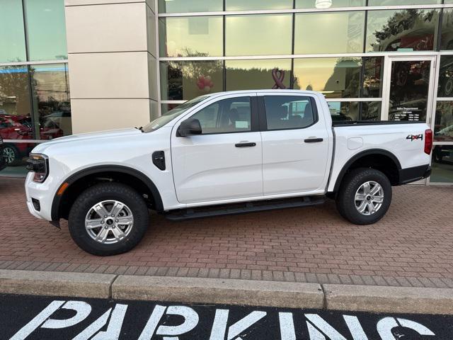
[[[453,315],[450,288],[0,270],[0,293]]]

